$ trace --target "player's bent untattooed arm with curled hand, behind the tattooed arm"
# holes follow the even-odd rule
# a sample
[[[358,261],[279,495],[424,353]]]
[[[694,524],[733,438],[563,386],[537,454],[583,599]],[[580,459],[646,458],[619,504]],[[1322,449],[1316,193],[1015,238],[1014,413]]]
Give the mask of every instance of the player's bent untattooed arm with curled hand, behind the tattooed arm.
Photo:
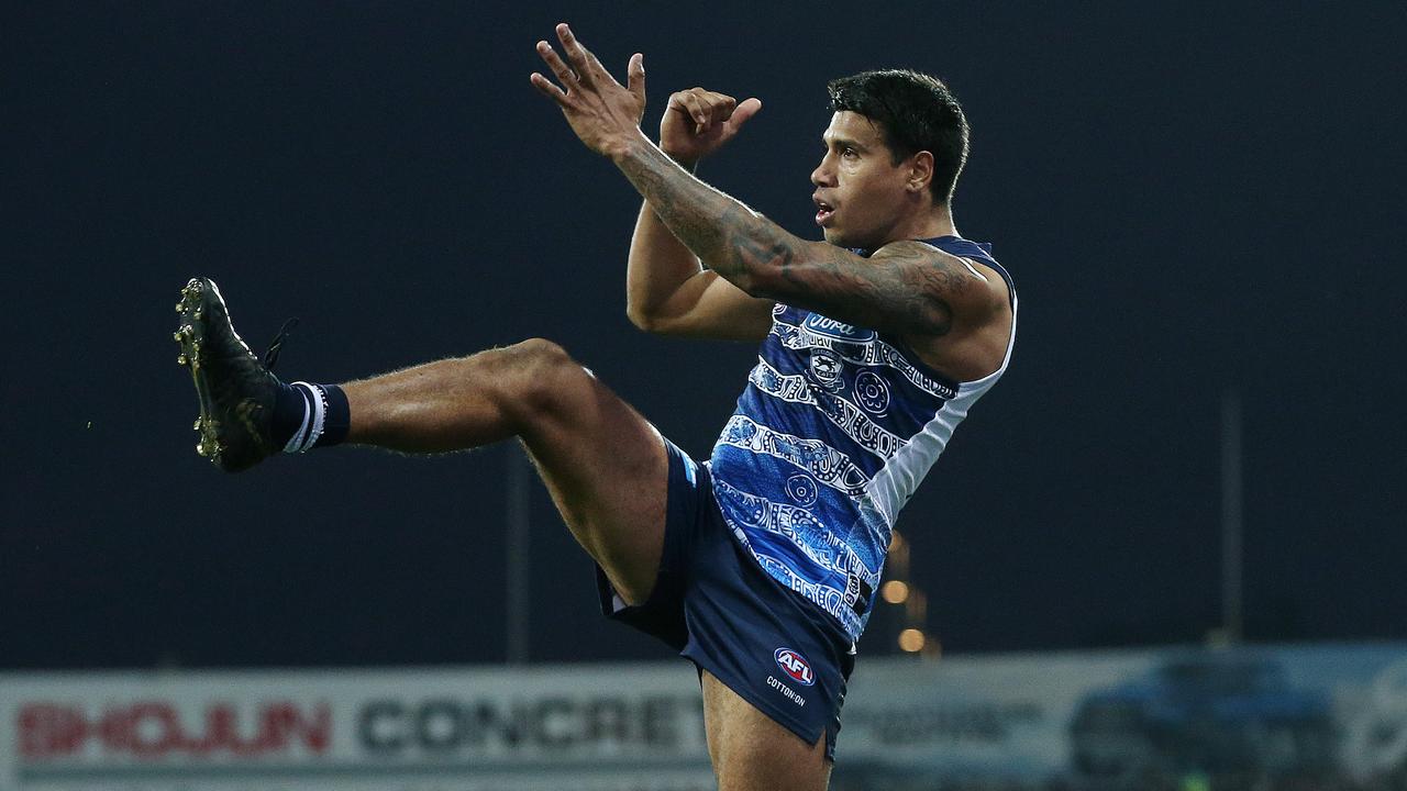
[[[692,172],[761,106],[702,87],[674,93],[660,121],[660,149]],[[626,314],[636,327],[661,335],[760,341],[771,328],[771,300],[750,297],[704,269],[649,203],[640,207],[626,266]]]

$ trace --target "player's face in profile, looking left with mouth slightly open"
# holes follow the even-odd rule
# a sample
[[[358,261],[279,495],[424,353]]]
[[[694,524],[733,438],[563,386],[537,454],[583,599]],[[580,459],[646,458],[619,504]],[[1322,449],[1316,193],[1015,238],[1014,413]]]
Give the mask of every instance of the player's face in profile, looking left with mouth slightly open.
[[[909,163],[895,165],[879,127],[858,113],[836,113],[822,141],[826,155],[810,183],[816,184],[816,225],[826,241],[868,249],[892,242],[912,201],[905,191]]]

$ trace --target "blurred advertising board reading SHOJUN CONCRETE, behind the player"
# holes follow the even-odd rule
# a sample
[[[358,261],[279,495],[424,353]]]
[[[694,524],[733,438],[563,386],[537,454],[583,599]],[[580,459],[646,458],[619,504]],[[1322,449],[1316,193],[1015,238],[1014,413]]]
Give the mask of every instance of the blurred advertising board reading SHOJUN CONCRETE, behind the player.
[[[1403,788],[1407,645],[862,659],[836,791]],[[712,788],[682,662],[0,674],[0,791]]]

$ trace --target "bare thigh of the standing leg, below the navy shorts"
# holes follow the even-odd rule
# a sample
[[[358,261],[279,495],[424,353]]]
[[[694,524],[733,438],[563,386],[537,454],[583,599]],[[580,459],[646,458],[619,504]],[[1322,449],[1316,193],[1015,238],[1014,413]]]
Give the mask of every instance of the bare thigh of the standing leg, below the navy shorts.
[[[823,791],[826,735],[808,745],[704,671],[704,728],[719,791]]]

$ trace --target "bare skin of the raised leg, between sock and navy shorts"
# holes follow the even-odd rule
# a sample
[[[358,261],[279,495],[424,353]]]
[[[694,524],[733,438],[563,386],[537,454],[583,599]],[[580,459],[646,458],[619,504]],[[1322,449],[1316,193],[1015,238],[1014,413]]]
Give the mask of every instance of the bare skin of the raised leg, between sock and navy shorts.
[[[664,545],[664,441],[561,346],[525,341],[342,388],[352,443],[436,453],[521,438],[620,597],[649,597]]]

